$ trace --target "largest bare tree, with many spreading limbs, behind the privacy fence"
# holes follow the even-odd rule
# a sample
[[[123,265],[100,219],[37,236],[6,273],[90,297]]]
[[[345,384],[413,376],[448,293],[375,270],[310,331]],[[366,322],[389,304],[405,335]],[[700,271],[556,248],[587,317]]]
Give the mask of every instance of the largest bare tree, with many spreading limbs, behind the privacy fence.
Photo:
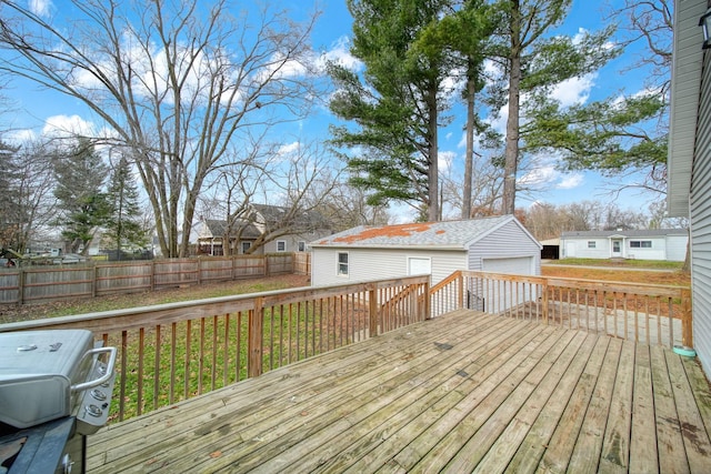
[[[0,1],[0,71],[98,117],[111,130],[103,139],[138,167],[163,255],[184,255],[198,198],[230,143],[302,117],[316,97],[316,14],[304,24],[267,7],[232,16],[226,0],[73,0],[54,13]]]

